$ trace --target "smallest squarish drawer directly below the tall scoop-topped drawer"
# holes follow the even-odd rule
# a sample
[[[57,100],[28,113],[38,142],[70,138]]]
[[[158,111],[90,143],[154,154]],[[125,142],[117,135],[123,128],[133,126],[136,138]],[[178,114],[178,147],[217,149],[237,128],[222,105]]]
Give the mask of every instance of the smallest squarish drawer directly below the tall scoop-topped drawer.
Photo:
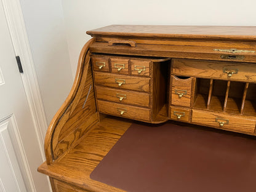
[[[190,122],[190,109],[170,106],[170,119]]]

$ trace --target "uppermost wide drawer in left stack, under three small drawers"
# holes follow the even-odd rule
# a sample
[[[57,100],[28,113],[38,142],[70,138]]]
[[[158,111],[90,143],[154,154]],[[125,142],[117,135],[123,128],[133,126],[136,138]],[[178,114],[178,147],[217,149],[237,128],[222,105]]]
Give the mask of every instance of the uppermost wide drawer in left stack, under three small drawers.
[[[150,91],[150,78],[95,72],[95,84],[119,89]]]

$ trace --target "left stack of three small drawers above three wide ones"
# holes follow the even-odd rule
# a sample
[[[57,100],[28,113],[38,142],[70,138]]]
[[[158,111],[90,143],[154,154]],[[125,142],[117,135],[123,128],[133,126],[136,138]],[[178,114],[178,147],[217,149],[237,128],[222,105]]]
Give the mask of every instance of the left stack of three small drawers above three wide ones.
[[[93,55],[92,65],[100,113],[151,121],[151,60]]]

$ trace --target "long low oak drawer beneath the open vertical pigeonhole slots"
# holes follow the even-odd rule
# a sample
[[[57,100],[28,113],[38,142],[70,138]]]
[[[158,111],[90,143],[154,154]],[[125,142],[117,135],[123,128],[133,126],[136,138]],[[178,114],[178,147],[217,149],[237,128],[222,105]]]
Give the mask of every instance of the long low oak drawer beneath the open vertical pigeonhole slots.
[[[192,122],[202,126],[216,127],[219,129],[233,130],[237,132],[254,133],[255,119],[242,118],[210,111],[193,110]]]

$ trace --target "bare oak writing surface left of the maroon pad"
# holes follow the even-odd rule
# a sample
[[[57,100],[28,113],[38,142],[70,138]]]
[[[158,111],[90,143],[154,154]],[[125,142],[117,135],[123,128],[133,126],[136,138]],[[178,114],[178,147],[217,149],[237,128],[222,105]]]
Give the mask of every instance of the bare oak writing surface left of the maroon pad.
[[[124,119],[119,118],[103,119],[63,159],[54,161],[50,165],[44,162],[38,171],[63,182],[79,186],[84,190],[123,191],[90,179],[90,174],[131,124],[132,121],[124,121]]]

